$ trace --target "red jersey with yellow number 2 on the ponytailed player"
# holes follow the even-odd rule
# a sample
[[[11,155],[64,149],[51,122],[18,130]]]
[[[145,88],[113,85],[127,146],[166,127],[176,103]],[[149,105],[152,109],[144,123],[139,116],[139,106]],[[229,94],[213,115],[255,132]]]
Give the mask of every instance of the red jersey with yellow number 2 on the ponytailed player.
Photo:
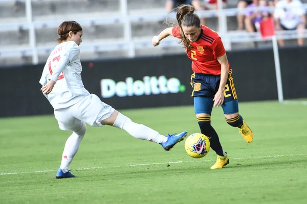
[[[172,29],[172,35],[176,38],[181,38],[179,25]],[[192,47],[187,51],[187,55],[192,60],[193,72],[220,75],[221,64],[217,61],[217,57],[221,57],[226,53],[221,37],[216,32],[205,27],[205,25],[202,25],[198,40],[191,42],[191,45]]]

